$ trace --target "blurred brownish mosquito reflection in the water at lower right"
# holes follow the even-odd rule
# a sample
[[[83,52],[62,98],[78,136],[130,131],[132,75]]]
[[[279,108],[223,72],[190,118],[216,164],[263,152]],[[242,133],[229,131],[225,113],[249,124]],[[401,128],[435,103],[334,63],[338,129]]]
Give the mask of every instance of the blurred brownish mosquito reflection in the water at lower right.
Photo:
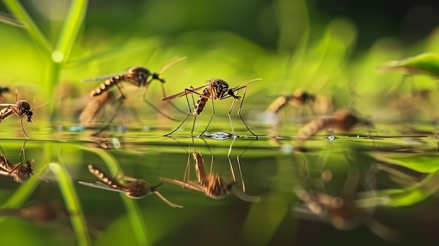
[[[339,230],[352,230],[360,224],[365,224],[372,233],[379,237],[395,241],[400,238],[400,234],[384,224],[379,223],[373,218],[374,205],[360,206],[357,203],[361,181],[361,173],[357,168],[353,168],[353,162],[345,153],[346,160],[351,164],[348,172],[346,172],[346,179],[342,192],[339,195],[333,195],[324,191],[324,187],[320,189],[307,189],[305,186],[297,185],[293,189],[299,200],[304,203],[302,206],[293,207],[293,210],[299,215],[308,219],[318,219],[332,224]],[[321,179],[325,182],[330,182],[332,173],[329,170],[322,172]],[[377,168],[373,165],[364,173],[363,183],[364,189],[367,193],[374,193],[376,191],[375,176]],[[316,183],[316,182],[311,182]]]

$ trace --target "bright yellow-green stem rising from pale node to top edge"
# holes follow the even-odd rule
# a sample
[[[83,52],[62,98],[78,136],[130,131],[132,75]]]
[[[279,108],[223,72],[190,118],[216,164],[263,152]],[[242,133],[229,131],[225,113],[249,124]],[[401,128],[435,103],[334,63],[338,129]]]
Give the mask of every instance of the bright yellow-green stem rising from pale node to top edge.
[[[52,54],[53,62],[65,62],[69,60],[70,52],[79,28],[87,11],[88,0],[76,0],[70,4],[69,12],[62,25],[60,36],[58,36],[58,43]]]

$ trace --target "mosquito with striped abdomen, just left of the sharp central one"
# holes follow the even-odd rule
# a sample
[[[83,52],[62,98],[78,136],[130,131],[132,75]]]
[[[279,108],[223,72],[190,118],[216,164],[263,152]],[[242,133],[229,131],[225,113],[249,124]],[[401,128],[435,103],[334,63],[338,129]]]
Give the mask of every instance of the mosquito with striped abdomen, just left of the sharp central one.
[[[94,90],[91,91],[91,93],[90,93],[91,97],[99,96],[102,93],[107,92],[108,90],[110,90],[114,86],[116,86],[117,89],[119,90],[119,93],[121,93],[121,102],[119,103],[119,106],[117,107],[116,111],[114,112],[112,118],[110,118],[109,121],[107,121],[107,123],[105,123],[104,128],[102,128],[98,132],[95,132],[93,135],[99,135],[101,132],[104,132],[104,130],[107,130],[107,128],[114,121],[114,118],[116,118],[116,115],[119,113],[119,111],[121,110],[123,104],[125,103],[126,95],[121,90],[121,87],[119,86],[119,83],[121,83],[122,81],[126,81],[128,83],[133,84],[134,86],[137,86],[138,88],[144,87],[144,88],[147,89],[149,84],[152,81],[154,81],[154,80],[160,81],[161,82],[161,87],[162,87],[162,92],[163,92],[163,97],[165,97],[166,96],[166,92],[165,92],[165,87],[163,86],[163,83],[165,83],[166,81],[163,78],[160,77],[160,74],[163,73],[163,71],[165,71],[166,69],[168,69],[168,67],[170,67],[173,64],[175,64],[176,62],[180,62],[181,60],[184,60],[184,59],[186,59],[186,57],[180,57],[180,58],[179,57],[175,57],[175,58],[173,58],[172,60],[170,60],[170,62],[165,64],[165,66],[163,66],[161,71],[159,71],[158,73],[157,72],[151,72],[151,71],[149,71],[149,69],[144,68],[144,67],[131,67],[130,69],[128,69],[128,71],[126,73],[101,76],[101,77],[97,77],[97,78],[88,78],[86,80],[83,80],[83,82],[88,82],[88,81],[104,81],[103,83],[100,84],[99,87],[97,87],[97,88],[95,88]],[[166,116],[167,118],[170,118],[173,121],[177,121],[176,119],[174,119],[174,118],[164,114],[162,111],[160,111],[160,109],[155,107],[154,104],[149,102],[146,99],[146,94],[147,94],[147,90],[145,90],[144,95],[143,95],[144,102],[149,104],[149,106],[151,106],[159,114],[162,114],[163,116]],[[171,103],[171,105],[173,107],[175,107],[175,109],[181,111],[174,104]]]

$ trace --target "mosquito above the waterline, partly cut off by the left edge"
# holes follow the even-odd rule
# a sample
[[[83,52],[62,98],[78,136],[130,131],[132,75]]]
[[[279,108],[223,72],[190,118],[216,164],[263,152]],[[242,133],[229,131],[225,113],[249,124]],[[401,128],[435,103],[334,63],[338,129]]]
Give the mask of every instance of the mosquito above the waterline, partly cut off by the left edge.
[[[0,104],[0,106],[7,106],[6,108],[0,110],[0,122],[3,121],[5,118],[8,118],[13,114],[16,114],[18,117],[20,117],[21,129],[23,130],[26,139],[28,139],[27,134],[25,132],[25,128],[23,128],[23,117],[27,116],[26,121],[31,123],[32,116],[34,115],[34,109],[38,109],[39,107],[47,104],[48,102],[41,104],[39,107],[31,109],[29,102],[27,102],[26,100],[18,100],[17,97],[18,97],[18,93],[15,90],[15,101],[16,101],[15,104]]]

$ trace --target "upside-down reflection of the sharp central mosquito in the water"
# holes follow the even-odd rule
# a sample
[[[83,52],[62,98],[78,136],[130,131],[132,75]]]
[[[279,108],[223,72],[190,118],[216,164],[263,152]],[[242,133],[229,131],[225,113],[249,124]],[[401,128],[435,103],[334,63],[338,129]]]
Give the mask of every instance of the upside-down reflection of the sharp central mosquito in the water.
[[[235,177],[233,165],[230,160],[230,152],[231,149],[229,150],[228,158],[229,158],[229,165],[230,165],[233,181],[227,181],[223,177],[212,172],[213,155],[212,155],[212,160],[210,162],[210,173],[207,174],[205,172],[203,156],[201,156],[201,153],[197,152],[195,149],[194,152],[192,152],[192,156],[194,157],[195,160],[195,170],[196,170],[196,177],[198,178],[198,182],[189,180],[190,156],[188,156],[187,159],[187,165],[186,165],[186,170],[184,170],[183,181],[176,179],[169,179],[166,177],[161,177],[160,179],[163,182],[167,182],[170,184],[177,184],[179,186],[182,186],[183,188],[189,188],[194,191],[201,191],[205,194],[205,196],[214,199],[224,198],[228,193],[233,192],[241,200],[245,200],[250,203],[259,202],[261,200],[260,196],[249,196],[245,194],[245,185],[242,179],[241,164],[239,165],[240,168],[239,172],[241,173],[241,180],[243,182],[243,191],[239,191],[238,189],[234,188],[236,184],[236,177]]]

